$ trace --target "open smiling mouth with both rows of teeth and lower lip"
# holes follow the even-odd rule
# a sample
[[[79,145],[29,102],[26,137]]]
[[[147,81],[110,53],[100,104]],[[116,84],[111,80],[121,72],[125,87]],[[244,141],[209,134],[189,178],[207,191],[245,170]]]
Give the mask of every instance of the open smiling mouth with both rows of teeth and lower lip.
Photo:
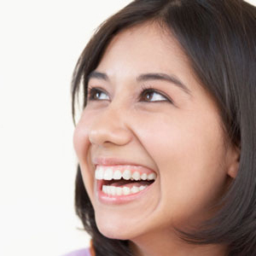
[[[95,178],[101,201],[121,203],[143,195],[156,174],[143,166],[96,166]]]

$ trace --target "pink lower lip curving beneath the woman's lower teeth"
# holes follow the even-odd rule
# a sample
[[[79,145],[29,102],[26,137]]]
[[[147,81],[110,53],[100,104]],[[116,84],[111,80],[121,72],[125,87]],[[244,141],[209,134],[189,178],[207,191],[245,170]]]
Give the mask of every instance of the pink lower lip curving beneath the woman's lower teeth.
[[[155,181],[154,181],[155,182]],[[103,180],[96,180],[96,194],[102,203],[106,204],[125,204],[131,201],[135,201],[140,199],[143,195],[148,193],[148,190],[150,190],[153,187],[153,184],[150,184],[146,189],[143,189],[142,191],[139,191],[135,194],[130,195],[107,195],[102,191],[102,185]]]

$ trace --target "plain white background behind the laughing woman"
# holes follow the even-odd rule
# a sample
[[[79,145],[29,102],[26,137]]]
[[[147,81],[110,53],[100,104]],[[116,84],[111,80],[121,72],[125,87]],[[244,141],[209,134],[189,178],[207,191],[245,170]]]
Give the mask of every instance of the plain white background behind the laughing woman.
[[[71,76],[96,27],[130,2],[0,1],[0,255],[89,245],[73,207]]]

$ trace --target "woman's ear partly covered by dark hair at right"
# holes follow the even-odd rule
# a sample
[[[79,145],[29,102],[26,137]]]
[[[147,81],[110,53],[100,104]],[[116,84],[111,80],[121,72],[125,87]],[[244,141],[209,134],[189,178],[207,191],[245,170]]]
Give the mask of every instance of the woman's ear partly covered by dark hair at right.
[[[227,174],[232,178],[236,178],[240,163],[240,154],[241,147],[230,146],[227,150]]]

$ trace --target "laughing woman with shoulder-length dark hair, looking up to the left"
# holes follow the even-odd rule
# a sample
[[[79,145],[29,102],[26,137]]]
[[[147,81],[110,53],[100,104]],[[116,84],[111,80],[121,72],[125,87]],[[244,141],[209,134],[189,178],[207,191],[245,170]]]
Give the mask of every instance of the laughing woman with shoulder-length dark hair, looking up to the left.
[[[255,255],[255,45],[241,0],[137,0],[100,26],[73,74],[77,255]]]

